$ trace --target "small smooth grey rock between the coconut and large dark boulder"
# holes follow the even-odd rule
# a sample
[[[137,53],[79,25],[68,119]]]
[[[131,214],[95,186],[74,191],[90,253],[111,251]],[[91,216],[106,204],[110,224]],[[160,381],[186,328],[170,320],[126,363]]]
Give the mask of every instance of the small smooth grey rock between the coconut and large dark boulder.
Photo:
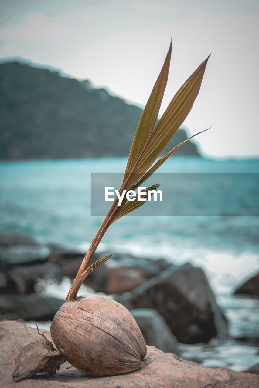
[[[163,352],[180,355],[178,342],[167,326],[165,319],[153,308],[135,308],[130,311],[143,334],[147,345]]]

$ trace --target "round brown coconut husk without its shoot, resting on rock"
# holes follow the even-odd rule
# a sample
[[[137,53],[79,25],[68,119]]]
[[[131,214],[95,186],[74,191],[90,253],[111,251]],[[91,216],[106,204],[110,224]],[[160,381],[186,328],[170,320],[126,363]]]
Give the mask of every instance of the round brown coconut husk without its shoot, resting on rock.
[[[147,354],[137,322],[120,303],[100,295],[66,301],[51,324],[56,348],[93,376],[133,372]]]

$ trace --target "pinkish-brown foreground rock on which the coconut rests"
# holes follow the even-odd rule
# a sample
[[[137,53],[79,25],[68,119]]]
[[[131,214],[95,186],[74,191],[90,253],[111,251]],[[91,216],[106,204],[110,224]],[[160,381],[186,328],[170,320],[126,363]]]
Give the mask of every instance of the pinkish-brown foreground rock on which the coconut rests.
[[[36,329],[27,327],[34,338]],[[44,333],[46,333],[44,331]],[[48,336],[49,333],[46,333]],[[38,337],[39,338],[39,337]],[[154,346],[147,346],[147,357],[140,368],[128,374],[92,377],[71,367],[61,365],[54,376],[36,374],[17,383],[12,379],[14,359],[23,346],[32,341],[24,324],[17,321],[0,322],[0,376],[5,388],[257,388],[259,376],[235,372],[231,369],[207,368],[195,362],[180,359],[173,353],[163,353]],[[68,369],[69,368],[69,369]]]

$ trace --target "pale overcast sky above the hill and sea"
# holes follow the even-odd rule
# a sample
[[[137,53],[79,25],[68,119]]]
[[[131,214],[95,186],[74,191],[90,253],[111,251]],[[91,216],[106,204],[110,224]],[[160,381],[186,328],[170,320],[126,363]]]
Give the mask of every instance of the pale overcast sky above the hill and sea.
[[[172,34],[160,114],[211,53],[184,122],[205,156],[259,157],[258,0],[0,0],[0,60],[20,58],[144,107]]]

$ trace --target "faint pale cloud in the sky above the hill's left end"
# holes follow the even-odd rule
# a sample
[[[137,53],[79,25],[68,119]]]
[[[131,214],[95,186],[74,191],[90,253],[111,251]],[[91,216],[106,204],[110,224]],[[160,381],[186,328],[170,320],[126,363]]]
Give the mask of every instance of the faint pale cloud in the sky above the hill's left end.
[[[0,38],[7,40],[39,40],[62,36],[70,32],[66,24],[51,22],[43,14],[30,14],[22,24],[0,31]]]

